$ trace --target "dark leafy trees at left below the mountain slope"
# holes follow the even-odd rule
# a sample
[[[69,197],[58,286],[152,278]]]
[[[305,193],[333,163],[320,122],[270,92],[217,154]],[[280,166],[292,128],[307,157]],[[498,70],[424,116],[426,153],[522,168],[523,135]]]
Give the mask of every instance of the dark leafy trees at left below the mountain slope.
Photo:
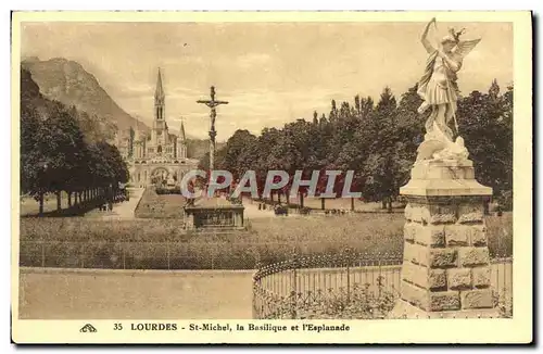
[[[61,208],[61,192],[68,206],[118,190],[128,180],[128,168],[117,148],[85,135],[88,115],[75,108],[43,98],[31,75],[21,73],[21,192],[40,202],[43,194],[55,193]]]

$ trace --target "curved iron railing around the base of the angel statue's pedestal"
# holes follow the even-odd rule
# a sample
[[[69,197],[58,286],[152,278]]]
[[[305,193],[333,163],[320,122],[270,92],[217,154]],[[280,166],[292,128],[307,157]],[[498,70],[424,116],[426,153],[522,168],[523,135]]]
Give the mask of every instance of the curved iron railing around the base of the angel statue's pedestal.
[[[253,317],[260,319],[384,318],[400,295],[401,253],[293,255],[258,265],[253,276]],[[513,260],[494,258],[495,306],[513,315]]]

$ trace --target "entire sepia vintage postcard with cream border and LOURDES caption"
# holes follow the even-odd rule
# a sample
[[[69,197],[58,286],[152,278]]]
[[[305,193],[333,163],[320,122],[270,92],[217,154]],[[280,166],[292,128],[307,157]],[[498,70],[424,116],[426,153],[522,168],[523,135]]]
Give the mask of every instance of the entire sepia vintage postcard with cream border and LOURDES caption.
[[[529,343],[530,12],[14,12],[15,343]]]

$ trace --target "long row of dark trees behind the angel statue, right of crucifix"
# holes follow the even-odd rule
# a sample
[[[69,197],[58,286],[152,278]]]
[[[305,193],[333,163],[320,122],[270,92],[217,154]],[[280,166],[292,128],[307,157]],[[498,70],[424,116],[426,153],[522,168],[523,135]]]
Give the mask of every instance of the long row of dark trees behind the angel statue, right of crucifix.
[[[313,170],[351,169],[355,172],[353,191],[362,192],[367,201],[381,201],[391,207],[400,187],[409,179],[417,148],[424,139],[424,125],[430,112],[425,116],[417,113],[421,102],[417,86],[399,101],[390,88],[383,89],[377,103],[370,97],[359,96],[354,98],[354,104],[338,105],[332,100],[328,114],[314,112],[310,121],[298,119],[281,129],[264,128],[260,136],[248,130],[236,131],[226,147],[217,151],[215,168],[227,169],[235,178],[248,169],[256,170],[260,187],[270,169],[287,170],[291,176],[302,169],[307,179]],[[504,203],[510,203],[513,86],[501,93],[494,80],[488,92],[473,91],[460,98],[457,121],[477,179],[492,187],[494,195]],[[202,159],[201,166],[209,166],[209,155]],[[327,182],[324,173],[320,177],[318,193],[325,191]],[[341,191],[342,182],[339,178],[337,192]],[[289,189],[290,184],[278,193],[288,199]],[[301,194],[303,198],[304,191]]]

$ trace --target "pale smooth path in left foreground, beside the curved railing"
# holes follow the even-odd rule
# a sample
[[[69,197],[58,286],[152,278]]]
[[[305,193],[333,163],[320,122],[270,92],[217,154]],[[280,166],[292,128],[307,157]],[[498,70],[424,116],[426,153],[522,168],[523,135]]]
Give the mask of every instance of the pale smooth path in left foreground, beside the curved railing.
[[[250,319],[252,273],[22,268],[20,318]]]

